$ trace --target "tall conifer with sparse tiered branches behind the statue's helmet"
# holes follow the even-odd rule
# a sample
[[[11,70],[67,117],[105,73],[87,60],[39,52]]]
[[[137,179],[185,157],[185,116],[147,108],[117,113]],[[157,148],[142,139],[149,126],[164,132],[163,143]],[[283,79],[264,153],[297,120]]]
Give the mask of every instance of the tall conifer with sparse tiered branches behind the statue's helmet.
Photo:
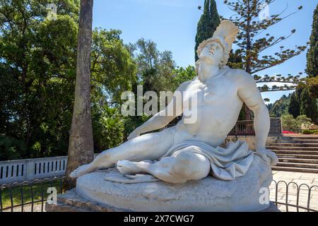
[[[240,33],[237,35],[237,41],[235,43],[240,48],[237,54],[242,58],[242,66],[245,71],[254,75],[257,83],[297,83],[300,78],[299,75],[288,75],[285,77],[281,75],[270,75],[261,78],[256,74],[265,69],[282,64],[292,57],[298,56],[307,48],[307,46],[295,46],[295,49],[286,49],[281,46],[273,56],[266,54],[266,50],[288,39],[296,31],[293,29],[285,36],[274,37],[266,32],[266,30],[272,25],[281,22],[283,19],[294,15],[297,11],[302,9],[302,6],[300,6],[297,11],[283,16],[286,11],[285,8],[281,13],[260,19],[260,13],[264,11],[266,6],[269,6],[269,4],[272,4],[274,1],[275,0],[225,0],[224,3],[231,11],[235,12],[235,14],[228,19],[232,20],[232,22],[240,28]],[[290,89],[295,89],[295,85],[282,85],[280,87],[273,86],[272,88],[264,85],[264,87],[261,88],[261,91]]]

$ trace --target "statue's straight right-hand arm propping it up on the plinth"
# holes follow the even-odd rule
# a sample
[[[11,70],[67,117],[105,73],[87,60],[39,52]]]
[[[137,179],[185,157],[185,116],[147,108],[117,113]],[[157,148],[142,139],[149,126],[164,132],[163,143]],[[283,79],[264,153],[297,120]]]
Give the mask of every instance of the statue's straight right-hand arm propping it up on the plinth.
[[[266,138],[269,135],[271,121],[269,118],[269,109],[267,109],[257,85],[248,73],[244,73],[240,78],[238,95],[245,105],[254,112],[254,131],[257,153],[264,157],[266,155],[271,159],[271,165],[276,165],[278,159],[276,154],[266,150]]]

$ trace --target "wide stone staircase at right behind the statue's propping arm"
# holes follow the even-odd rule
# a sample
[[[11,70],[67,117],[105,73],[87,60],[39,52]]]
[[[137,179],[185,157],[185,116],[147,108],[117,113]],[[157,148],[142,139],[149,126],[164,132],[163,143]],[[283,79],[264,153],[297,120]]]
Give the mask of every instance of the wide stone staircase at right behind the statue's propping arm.
[[[318,136],[282,136],[266,148],[279,159],[273,170],[318,173]]]

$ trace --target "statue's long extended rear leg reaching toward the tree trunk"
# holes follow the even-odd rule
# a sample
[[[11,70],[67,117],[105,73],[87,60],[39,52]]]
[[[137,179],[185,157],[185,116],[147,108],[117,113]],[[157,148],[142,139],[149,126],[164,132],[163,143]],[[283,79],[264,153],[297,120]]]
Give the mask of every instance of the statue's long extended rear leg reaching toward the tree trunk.
[[[103,151],[93,162],[78,167],[70,176],[77,178],[98,169],[114,167],[119,160],[158,160],[171,148],[174,138],[175,126],[158,133],[144,134],[126,141],[116,148]]]

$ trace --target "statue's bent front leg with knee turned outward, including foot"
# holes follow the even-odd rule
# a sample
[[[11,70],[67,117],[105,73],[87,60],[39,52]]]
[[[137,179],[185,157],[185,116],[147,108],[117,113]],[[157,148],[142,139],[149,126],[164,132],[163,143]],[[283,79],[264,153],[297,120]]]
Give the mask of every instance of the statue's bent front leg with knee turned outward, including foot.
[[[211,165],[204,155],[184,152],[177,157],[164,157],[155,163],[121,160],[117,162],[117,169],[122,174],[148,173],[164,182],[179,184],[207,177]]]

